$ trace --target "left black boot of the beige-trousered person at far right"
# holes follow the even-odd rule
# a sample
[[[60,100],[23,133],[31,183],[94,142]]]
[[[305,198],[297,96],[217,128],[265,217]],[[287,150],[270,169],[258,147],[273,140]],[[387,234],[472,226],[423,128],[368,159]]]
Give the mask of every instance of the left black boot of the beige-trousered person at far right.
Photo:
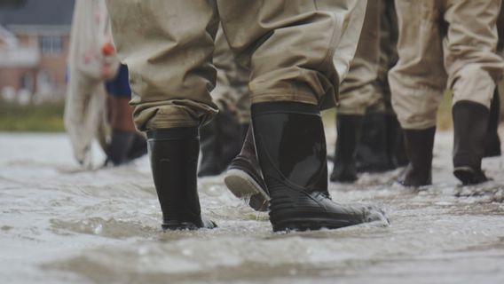
[[[398,178],[405,186],[432,185],[432,149],[436,128],[404,130],[409,163]]]

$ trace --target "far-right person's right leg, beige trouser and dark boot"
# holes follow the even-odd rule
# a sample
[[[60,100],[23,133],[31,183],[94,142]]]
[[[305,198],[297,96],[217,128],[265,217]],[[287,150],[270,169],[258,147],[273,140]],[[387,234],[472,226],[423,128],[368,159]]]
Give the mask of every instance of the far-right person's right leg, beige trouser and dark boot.
[[[453,89],[453,174],[462,184],[487,178],[481,170],[489,108],[504,61],[496,54],[500,0],[448,1],[445,66]]]

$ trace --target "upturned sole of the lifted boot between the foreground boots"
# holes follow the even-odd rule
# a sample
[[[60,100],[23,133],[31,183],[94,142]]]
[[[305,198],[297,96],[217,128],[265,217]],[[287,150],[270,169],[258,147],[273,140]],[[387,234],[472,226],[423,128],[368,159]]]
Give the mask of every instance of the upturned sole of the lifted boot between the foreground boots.
[[[256,180],[243,170],[228,170],[224,184],[240,199],[249,199],[248,205],[256,211],[267,211],[270,195],[264,191]]]

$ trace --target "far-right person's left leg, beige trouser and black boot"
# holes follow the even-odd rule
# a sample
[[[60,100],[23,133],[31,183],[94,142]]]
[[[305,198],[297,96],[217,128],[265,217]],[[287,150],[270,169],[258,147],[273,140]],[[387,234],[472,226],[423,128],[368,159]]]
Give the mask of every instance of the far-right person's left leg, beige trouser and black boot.
[[[392,106],[404,130],[409,164],[398,182],[431,184],[437,106],[445,90],[441,1],[396,0],[398,63],[390,70]]]

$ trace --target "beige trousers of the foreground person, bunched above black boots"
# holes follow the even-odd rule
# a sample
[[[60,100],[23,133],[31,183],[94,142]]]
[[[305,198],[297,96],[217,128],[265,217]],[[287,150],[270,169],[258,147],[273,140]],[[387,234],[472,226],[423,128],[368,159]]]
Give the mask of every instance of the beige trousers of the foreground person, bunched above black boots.
[[[217,112],[209,91],[216,81],[212,55],[219,17],[235,56],[250,67],[253,104],[334,106],[366,9],[363,0],[106,4],[119,57],[130,70],[139,130],[193,127]]]

